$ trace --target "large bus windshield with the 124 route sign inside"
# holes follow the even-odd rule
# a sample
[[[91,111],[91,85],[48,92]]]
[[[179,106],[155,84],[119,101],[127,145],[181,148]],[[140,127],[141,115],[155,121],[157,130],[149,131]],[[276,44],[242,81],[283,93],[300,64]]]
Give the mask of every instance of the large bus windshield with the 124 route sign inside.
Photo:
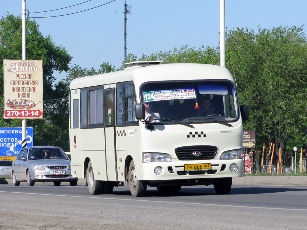
[[[150,82],[141,86],[146,121],[217,122],[238,118],[235,86],[230,81]],[[150,114],[151,116],[148,116]]]

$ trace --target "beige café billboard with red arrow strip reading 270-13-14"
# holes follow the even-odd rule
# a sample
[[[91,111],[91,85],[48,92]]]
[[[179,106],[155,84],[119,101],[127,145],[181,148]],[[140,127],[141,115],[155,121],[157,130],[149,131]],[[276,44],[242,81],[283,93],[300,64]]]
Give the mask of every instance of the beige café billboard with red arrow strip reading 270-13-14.
[[[43,61],[3,60],[4,118],[43,118]]]

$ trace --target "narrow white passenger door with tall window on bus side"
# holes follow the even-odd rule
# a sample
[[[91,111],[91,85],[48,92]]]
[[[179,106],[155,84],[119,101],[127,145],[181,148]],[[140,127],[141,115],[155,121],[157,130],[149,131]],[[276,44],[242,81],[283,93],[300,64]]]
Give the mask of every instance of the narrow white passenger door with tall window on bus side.
[[[115,88],[104,90],[104,114],[105,114],[105,154],[106,154],[106,168],[107,180],[118,181],[117,163],[116,163],[116,139],[115,139]]]

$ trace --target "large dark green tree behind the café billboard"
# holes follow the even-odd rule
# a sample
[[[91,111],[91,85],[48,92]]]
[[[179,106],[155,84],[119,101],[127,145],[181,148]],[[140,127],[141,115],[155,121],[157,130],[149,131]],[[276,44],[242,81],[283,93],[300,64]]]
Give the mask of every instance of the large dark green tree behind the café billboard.
[[[21,17],[8,14],[0,19],[1,59],[22,59]],[[34,145],[55,145],[68,148],[68,117],[62,113],[65,98],[62,84],[53,85],[54,71],[68,71],[72,57],[62,46],[56,46],[50,36],[43,36],[35,20],[26,20],[26,58],[43,60],[43,119],[28,119],[34,127]],[[3,62],[0,63],[0,89],[3,92]],[[3,95],[0,96],[3,102]],[[67,98],[66,98],[67,100]],[[2,114],[3,114],[3,106]],[[0,118],[1,127],[21,127],[21,119]]]

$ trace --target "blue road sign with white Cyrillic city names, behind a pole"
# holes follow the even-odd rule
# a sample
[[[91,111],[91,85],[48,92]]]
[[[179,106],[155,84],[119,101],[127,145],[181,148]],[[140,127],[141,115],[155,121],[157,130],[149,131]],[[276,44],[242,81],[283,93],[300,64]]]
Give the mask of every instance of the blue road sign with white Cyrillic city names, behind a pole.
[[[22,128],[0,128],[0,160],[14,160],[21,144]],[[27,128],[27,146],[33,146],[33,127]]]

